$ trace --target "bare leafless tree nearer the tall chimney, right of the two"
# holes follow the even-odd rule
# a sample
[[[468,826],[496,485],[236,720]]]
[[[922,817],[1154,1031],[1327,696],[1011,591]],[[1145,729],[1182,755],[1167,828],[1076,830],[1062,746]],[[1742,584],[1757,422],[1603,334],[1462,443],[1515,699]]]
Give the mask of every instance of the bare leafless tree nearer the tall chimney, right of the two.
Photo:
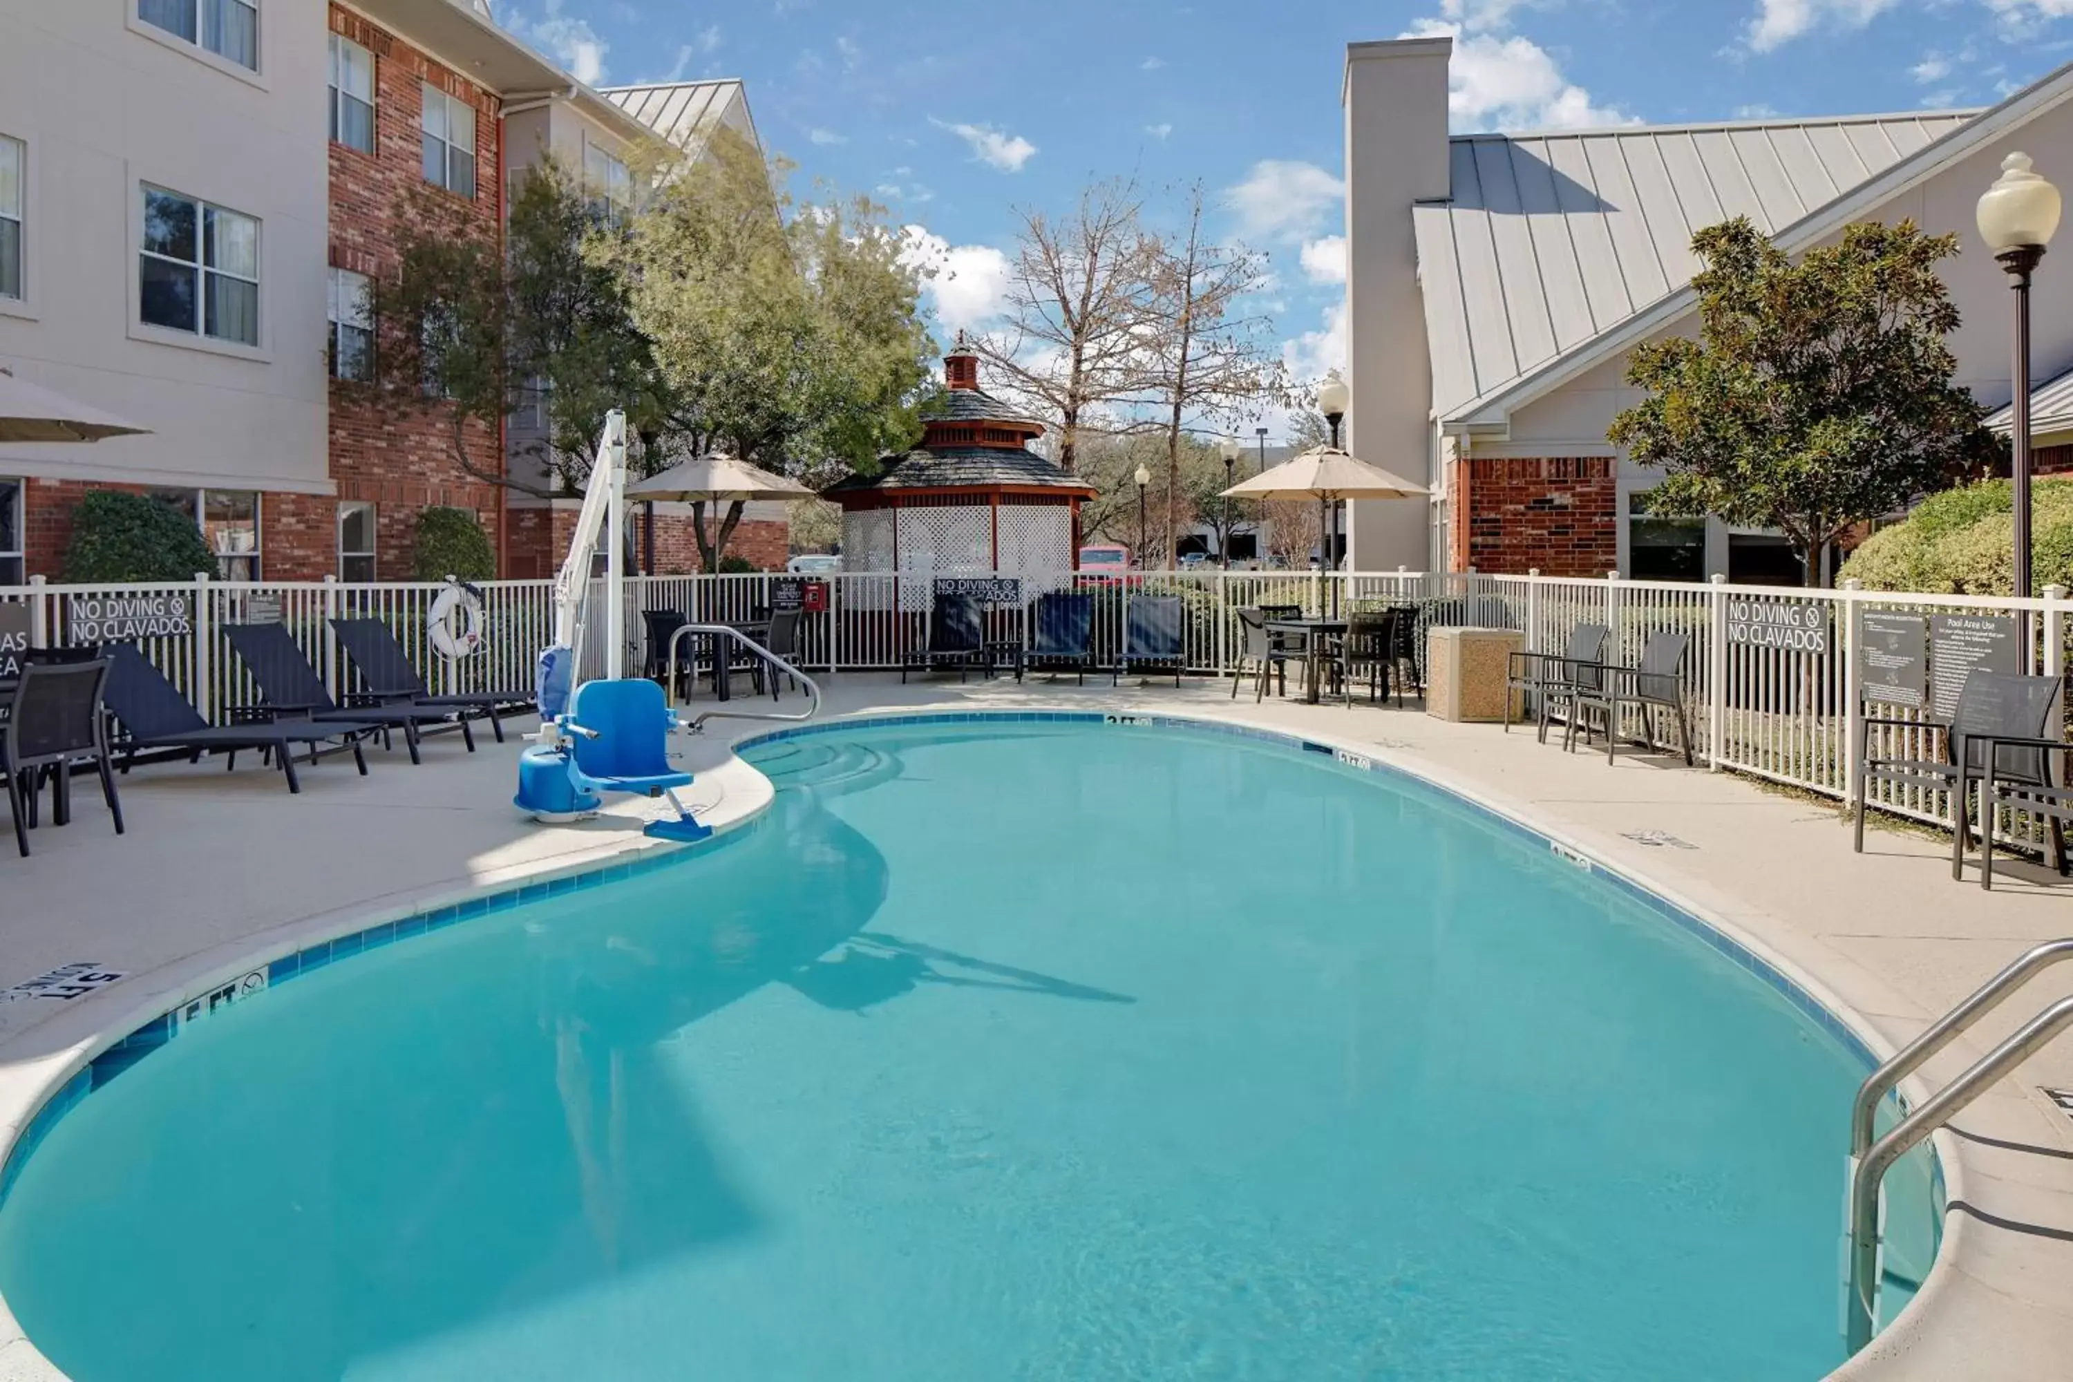
[[[1246,298],[1267,286],[1267,259],[1242,244],[1217,244],[1202,232],[1202,184],[1188,189],[1188,224],[1159,244],[1153,267],[1155,329],[1144,354],[1153,367],[1148,402],[1165,433],[1165,551],[1182,524],[1182,439],[1256,414],[1285,394],[1273,321]]]

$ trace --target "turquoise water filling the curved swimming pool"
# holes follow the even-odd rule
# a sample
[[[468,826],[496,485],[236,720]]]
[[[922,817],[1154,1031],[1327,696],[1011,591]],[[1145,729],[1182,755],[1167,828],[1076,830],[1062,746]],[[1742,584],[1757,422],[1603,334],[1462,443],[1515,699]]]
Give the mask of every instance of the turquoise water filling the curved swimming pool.
[[[750,750],[763,825],[191,1024],[0,1293],[73,1378],[1816,1378],[1862,1061],[1437,791],[1138,727]]]

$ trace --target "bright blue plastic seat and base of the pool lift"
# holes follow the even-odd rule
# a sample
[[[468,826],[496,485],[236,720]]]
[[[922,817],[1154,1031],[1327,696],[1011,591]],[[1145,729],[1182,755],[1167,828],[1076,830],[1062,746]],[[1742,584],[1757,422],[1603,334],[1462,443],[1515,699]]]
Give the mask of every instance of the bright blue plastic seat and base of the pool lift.
[[[657,839],[705,839],[713,827],[699,825],[676,789],[688,787],[690,773],[670,762],[670,731],[682,721],[647,678],[585,682],[576,688],[568,715],[556,725],[566,748],[529,748],[520,767],[518,806],[522,810],[572,816],[593,812],[605,791],[665,796],[676,820],[653,820],[645,833]],[[566,787],[545,781],[566,773]]]

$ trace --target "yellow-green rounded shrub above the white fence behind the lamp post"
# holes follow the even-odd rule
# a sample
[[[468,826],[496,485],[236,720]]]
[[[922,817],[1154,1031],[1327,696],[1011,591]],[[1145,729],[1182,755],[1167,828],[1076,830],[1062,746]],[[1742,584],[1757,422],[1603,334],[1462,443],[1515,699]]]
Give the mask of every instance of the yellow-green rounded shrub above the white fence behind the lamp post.
[[[1864,541],[1839,576],[1870,591],[2009,595],[2015,591],[2015,503],[2009,481],[1924,499],[1907,522]],[[2073,481],[2038,481],[2029,503],[2029,582],[2073,586]]]

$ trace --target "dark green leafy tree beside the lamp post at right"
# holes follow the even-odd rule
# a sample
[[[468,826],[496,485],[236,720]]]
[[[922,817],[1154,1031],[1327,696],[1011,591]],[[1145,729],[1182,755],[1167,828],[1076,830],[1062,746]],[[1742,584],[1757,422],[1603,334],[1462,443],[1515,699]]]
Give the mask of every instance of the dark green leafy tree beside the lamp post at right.
[[[1748,218],[1692,238],[1700,338],[1636,346],[1648,398],[1609,437],[1667,479],[1650,512],[1777,528],[1808,578],[1853,524],[1982,474],[1998,443],[1951,381],[1959,313],[1936,265],[1957,236],[1859,222],[1797,263]]]

